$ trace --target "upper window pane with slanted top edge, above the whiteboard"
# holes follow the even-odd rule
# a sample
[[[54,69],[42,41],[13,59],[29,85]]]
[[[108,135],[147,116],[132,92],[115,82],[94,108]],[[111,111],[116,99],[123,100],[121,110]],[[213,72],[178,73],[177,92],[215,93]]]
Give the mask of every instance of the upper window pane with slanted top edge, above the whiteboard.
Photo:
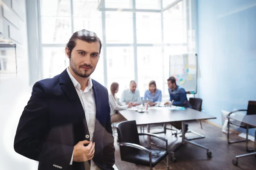
[[[183,1],[163,12],[163,42],[187,42],[186,11]]]

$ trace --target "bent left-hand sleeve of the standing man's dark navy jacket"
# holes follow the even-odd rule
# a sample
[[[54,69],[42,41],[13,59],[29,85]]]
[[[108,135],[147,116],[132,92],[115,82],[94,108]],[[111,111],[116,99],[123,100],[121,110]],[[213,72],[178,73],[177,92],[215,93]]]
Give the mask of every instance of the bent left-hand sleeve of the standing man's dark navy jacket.
[[[17,153],[47,164],[70,164],[73,146],[47,141],[49,133],[48,98],[44,85],[36,82],[17,127],[14,149]]]

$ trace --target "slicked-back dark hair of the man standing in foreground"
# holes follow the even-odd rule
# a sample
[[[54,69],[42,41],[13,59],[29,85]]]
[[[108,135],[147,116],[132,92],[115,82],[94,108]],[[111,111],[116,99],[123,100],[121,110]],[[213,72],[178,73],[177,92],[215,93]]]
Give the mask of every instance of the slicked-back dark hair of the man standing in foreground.
[[[75,48],[76,46],[76,40],[83,40],[86,42],[99,42],[99,53],[101,51],[102,48],[102,43],[101,40],[99,39],[99,37],[97,37],[96,33],[93,31],[88,31],[85,29],[82,29],[80,31],[76,31],[72,37],[70,38],[69,42],[67,43],[66,47],[70,50],[70,54],[72,52],[72,50]]]

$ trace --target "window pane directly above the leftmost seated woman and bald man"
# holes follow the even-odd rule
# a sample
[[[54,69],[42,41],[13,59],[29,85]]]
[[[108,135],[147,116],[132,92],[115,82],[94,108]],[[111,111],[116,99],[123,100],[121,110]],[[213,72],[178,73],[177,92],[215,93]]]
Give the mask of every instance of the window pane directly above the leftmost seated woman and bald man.
[[[133,47],[108,47],[108,89],[112,82],[118,82],[120,97],[122,91],[129,88],[129,83],[134,79],[134,49]]]

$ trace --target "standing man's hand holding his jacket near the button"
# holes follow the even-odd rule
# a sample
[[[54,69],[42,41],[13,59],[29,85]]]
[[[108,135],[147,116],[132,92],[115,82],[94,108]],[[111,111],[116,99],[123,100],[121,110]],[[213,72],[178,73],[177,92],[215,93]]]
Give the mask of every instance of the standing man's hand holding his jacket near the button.
[[[88,144],[88,146],[84,146],[84,144]],[[93,159],[94,156],[94,146],[95,143],[92,141],[80,141],[74,146],[74,155],[73,161],[75,162],[84,162]]]

